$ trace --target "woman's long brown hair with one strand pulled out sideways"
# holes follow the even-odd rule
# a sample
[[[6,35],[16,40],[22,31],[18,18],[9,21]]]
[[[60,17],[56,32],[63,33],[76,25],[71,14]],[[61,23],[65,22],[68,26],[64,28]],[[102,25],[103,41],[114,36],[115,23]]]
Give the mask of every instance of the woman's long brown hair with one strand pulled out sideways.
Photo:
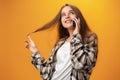
[[[62,9],[65,6],[71,7],[72,10],[75,12],[76,16],[78,18],[80,18],[80,31],[79,31],[79,33],[81,34],[82,39],[84,40],[85,36],[87,36],[88,32],[91,32],[91,30],[88,27],[88,25],[87,25],[84,17],[82,16],[81,11],[77,7],[75,7],[75,6],[71,5],[71,4],[65,4],[64,6],[62,6],[61,9],[60,9],[60,11],[58,12],[58,14],[56,15],[56,17],[52,21],[50,21],[47,24],[45,24],[44,26],[38,28],[34,32],[38,32],[38,31],[42,31],[42,30],[48,29],[48,28],[50,28],[53,25],[55,25],[55,24],[58,23],[58,27],[59,27],[58,28],[59,39],[68,37],[69,33],[68,33],[67,29],[64,28],[63,25],[62,25],[62,23],[61,23],[61,11],[62,11]]]

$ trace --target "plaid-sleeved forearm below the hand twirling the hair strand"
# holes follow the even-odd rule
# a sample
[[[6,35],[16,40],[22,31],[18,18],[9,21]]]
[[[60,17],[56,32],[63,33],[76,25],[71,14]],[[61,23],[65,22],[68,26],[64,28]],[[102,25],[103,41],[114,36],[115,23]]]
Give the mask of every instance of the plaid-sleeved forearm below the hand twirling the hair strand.
[[[47,62],[39,52],[32,54],[32,64],[40,71],[41,77],[46,80],[51,75],[53,69],[50,61]]]

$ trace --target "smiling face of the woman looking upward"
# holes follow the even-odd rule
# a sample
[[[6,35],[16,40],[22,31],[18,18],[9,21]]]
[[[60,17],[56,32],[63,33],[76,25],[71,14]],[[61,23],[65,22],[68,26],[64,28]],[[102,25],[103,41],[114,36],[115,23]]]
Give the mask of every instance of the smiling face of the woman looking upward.
[[[74,29],[73,19],[76,17],[75,12],[71,7],[65,6],[61,11],[61,23],[64,28]]]

